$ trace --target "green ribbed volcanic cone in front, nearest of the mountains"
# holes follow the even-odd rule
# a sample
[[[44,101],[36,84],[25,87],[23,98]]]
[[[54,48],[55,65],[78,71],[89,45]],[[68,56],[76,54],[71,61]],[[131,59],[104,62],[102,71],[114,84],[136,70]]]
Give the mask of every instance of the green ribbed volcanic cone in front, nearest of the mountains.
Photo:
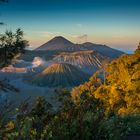
[[[31,82],[46,87],[73,87],[84,83],[88,79],[89,75],[77,67],[66,63],[56,63],[33,77]]]

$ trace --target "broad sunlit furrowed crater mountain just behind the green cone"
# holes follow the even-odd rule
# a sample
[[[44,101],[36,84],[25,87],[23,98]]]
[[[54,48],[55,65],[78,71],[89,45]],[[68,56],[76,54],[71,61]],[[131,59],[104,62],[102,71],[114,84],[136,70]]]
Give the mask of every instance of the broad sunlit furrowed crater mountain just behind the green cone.
[[[53,59],[53,61],[57,63],[63,62],[75,65],[89,74],[93,74],[96,70],[102,67],[104,61],[108,60],[108,57],[101,55],[97,51],[61,53]]]

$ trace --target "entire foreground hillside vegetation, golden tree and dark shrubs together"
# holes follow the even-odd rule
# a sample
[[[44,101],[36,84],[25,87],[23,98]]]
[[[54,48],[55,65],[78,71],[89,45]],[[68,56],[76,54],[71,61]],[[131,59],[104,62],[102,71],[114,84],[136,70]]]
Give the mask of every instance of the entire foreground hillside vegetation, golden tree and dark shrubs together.
[[[123,55],[104,67],[104,81],[99,78],[98,71],[89,82],[75,87],[71,93],[65,89],[56,90],[56,101],[61,101],[57,111],[53,111],[43,97],[39,97],[32,107],[25,102],[12,113],[3,110],[0,116],[1,139],[139,138],[139,71],[140,47],[134,54]]]

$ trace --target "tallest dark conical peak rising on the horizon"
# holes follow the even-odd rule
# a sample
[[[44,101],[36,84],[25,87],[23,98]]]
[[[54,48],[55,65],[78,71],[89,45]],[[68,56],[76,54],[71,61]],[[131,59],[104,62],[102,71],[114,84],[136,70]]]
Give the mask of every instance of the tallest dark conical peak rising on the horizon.
[[[36,50],[67,50],[74,44],[62,36],[57,36],[43,44]]]

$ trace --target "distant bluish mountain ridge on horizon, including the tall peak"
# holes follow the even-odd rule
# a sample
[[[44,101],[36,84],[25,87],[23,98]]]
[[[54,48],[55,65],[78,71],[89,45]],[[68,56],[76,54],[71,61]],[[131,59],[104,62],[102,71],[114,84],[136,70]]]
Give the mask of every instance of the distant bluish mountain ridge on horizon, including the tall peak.
[[[47,43],[35,49],[35,51],[62,51],[62,52],[63,51],[75,52],[75,51],[87,51],[87,50],[96,50],[102,55],[108,56],[110,58],[116,58],[124,54],[124,52],[122,51],[101,44],[94,44],[91,42],[86,42],[83,44],[74,44],[62,36],[54,37]]]

